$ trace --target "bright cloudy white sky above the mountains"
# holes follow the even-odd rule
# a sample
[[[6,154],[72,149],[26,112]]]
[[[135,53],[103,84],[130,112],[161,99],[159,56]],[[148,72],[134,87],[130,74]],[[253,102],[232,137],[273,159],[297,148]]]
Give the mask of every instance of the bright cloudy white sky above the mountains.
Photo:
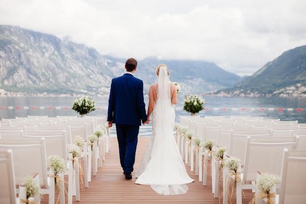
[[[306,45],[306,0],[0,0],[0,24],[103,55],[204,60],[243,76]]]

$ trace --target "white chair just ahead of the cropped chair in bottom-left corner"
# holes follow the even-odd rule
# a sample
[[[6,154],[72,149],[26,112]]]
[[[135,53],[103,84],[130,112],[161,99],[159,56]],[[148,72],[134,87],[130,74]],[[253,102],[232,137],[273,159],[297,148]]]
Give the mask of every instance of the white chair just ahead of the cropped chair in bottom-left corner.
[[[0,139],[0,149],[12,149],[14,154],[15,181],[22,184],[22,179],[36,172],[39,175],[43,194],[49,195],[49,204],[55,201],[55,181],[48,177],[45,140],[40,139]],[[18,191],[17,191],[18,193]]]

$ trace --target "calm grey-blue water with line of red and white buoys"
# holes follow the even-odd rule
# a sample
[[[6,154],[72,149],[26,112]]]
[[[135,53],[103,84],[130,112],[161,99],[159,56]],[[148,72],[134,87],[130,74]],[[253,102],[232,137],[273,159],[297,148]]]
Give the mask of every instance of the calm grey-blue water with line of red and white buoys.
[[[0,97],[0,118],[25,117],[27,115],[78,115],[71,109],[74,97]],[[93,97],[96,110],[88,115],[106,115],[108,97]],[[199,116],[250,115],[281,120],[298,120],[306,123],[306,98],[240,98],[205,97],[205,109]],[[148,97],[145,96],[148,104]],[[183,98],[179,97],[175,106],[175,122],[182,115],[190,115],[183,110]],[[150,136],[151,125],[141,126],[140,135]]]

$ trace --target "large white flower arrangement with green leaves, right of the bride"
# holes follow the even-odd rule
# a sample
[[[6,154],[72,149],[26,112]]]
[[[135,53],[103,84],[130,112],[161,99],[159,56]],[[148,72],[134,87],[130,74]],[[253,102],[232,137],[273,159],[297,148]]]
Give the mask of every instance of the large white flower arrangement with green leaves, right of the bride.
[[[184,108],[183,110],[195,114],[202,111],[203,105],[206,103],[205,99],[197,94],[184,96]]]

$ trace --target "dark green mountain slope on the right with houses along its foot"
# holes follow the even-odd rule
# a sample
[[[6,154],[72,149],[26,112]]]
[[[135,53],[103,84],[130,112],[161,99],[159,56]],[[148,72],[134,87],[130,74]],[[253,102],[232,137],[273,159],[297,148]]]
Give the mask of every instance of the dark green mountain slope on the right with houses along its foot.
[[[306,96],[306,45],[285,51],[238,85],[206,95]]]

